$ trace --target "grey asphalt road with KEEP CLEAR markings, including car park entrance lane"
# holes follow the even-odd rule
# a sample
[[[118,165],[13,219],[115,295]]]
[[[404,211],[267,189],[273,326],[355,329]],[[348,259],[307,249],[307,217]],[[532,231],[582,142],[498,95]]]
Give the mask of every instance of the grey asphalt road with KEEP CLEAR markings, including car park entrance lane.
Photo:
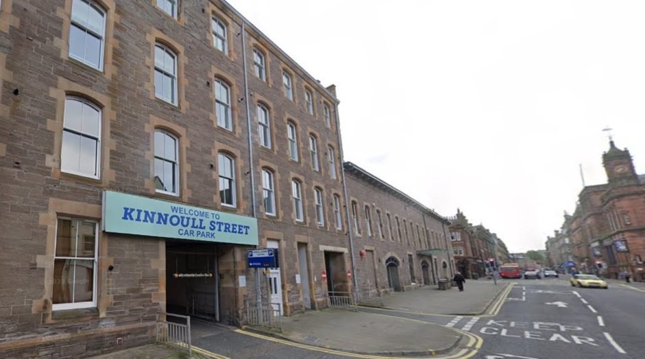
[[[645,287],[573,288],[568,279],[510,282],[515,286],[503,305],[482,316],[360,310],[438,323],[481,338],[481,346],[465,358],[645,358]],[[193,343],[220,358],[361,357],[228,329],[209,329]]]

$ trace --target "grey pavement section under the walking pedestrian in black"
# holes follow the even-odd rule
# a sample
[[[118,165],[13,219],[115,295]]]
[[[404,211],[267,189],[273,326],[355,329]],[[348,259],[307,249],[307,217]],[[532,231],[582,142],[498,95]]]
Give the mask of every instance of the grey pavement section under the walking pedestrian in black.
[[[385,294],[384,308],[425,314],[481,315],[493,303],[510,281],[468,280],[464,291],[457,287],[439,290],[436,286],[425,286],[407,292]]]

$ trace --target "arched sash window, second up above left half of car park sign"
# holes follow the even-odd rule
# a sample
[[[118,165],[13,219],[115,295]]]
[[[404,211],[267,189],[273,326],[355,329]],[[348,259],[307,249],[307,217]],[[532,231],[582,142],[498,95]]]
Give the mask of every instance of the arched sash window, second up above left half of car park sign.
[[[177,104],[177,56],[160,43],[154,45],[154,95]]]

